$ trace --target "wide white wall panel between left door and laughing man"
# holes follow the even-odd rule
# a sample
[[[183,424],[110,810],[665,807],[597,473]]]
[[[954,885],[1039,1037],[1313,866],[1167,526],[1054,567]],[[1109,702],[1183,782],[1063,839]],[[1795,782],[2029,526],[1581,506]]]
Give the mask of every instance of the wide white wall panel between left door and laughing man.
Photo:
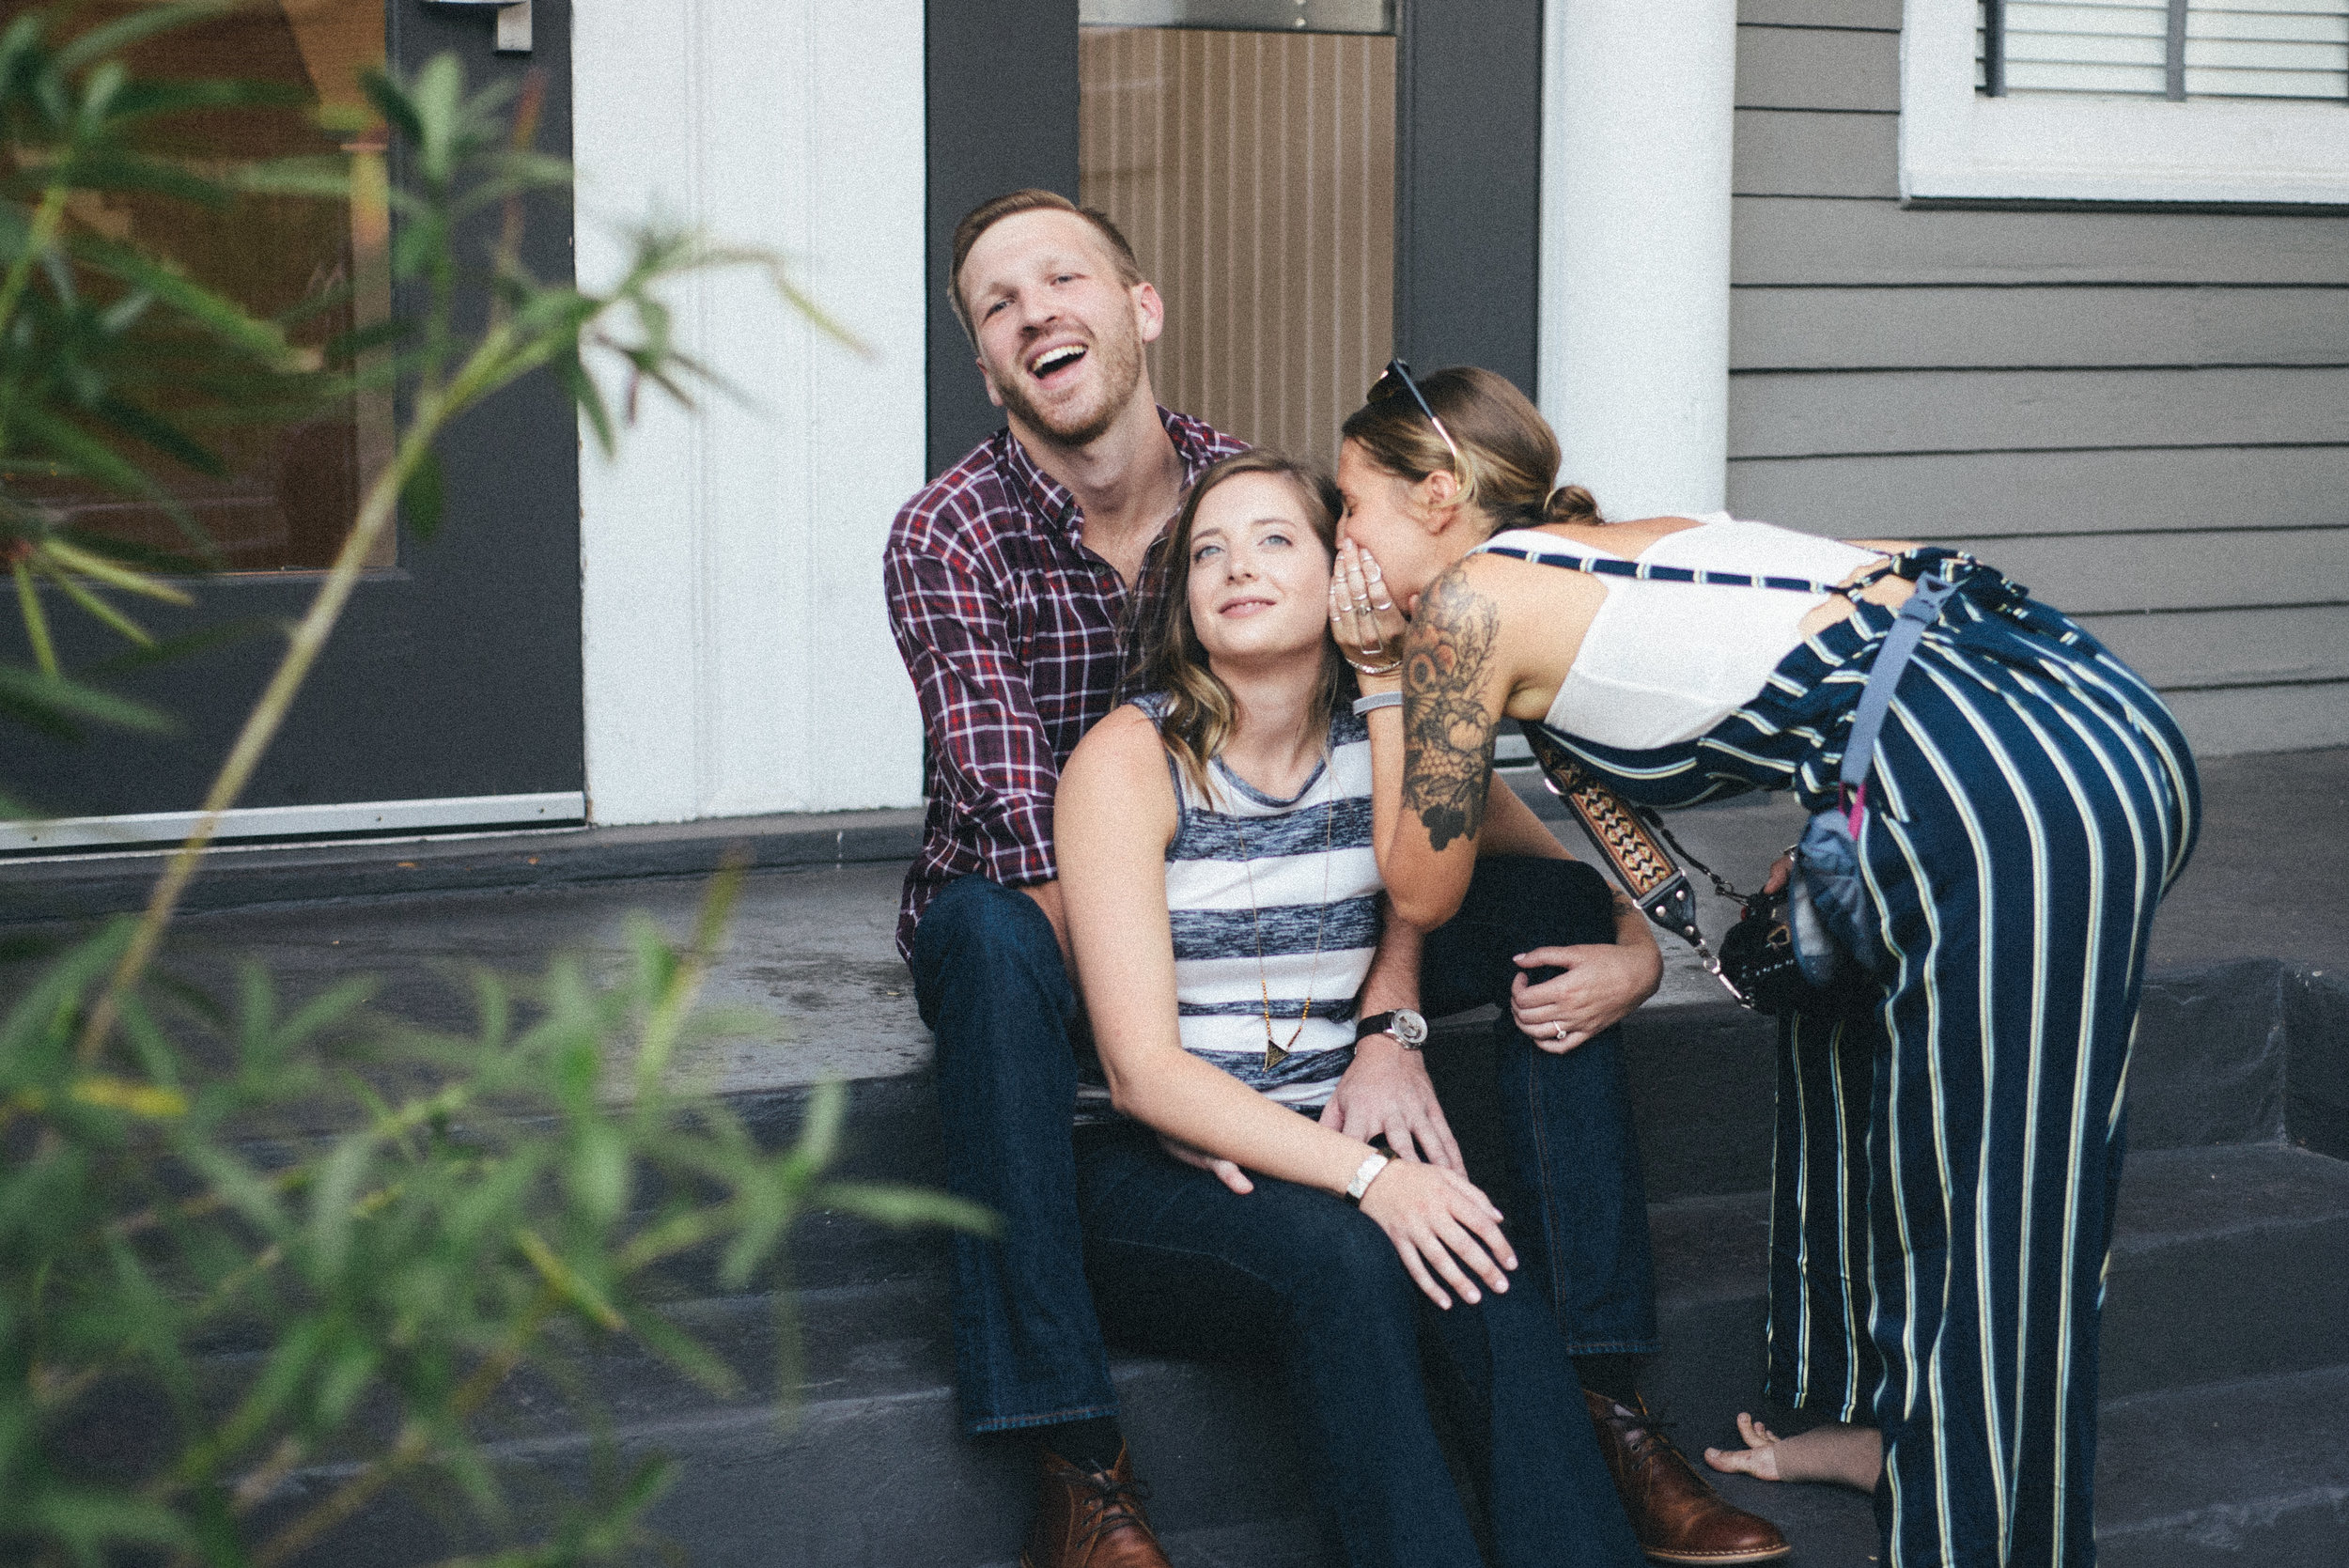
[[[754,270],[672,293],[684,347],[747,394],[646,392],[583,441],[594,822],[911,805],[921,718],[881,542],[923,484],[921,0],[573,7],[580,277],[648,211],[787,258],[869,352]]]

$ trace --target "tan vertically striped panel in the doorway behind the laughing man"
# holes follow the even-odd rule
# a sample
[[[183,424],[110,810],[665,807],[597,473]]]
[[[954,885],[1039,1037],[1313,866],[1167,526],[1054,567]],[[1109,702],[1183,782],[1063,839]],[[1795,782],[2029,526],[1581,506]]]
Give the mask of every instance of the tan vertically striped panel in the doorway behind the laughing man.
[[[1078,190],[1167,305],[1158,401],[1332,462],[1395,319],[1395,40],[1078,38]]]

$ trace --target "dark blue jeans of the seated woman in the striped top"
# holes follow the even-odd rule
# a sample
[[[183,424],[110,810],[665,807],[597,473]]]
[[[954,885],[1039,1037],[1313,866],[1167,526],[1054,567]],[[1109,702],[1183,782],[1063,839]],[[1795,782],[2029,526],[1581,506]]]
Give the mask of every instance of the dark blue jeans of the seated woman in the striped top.
[[[1466,1385],[1496,1561],[1635,1568],[1581,1385],[1525,1277],[1438,1310],[1393,1242],[1344,1197],[1266,1176],[1250,1195],[1177,1164],[1142,1127],[1076,1134],[1085,1261],[1120,1340],[1280,1361],[1322,1528],[1351,1568],[1480,1568],[1428,1418],[1435,1371]],[[1212,1441],[1212,1439],[1207,1439]]]

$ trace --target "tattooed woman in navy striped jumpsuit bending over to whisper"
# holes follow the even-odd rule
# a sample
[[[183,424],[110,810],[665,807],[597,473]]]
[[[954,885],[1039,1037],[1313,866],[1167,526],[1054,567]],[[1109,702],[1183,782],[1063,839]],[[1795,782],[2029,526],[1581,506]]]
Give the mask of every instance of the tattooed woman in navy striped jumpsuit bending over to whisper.
[[[1405,650],[1365,676],[1405,692],[1369,721],[1395,908],[1428,925],[1461,897],[1503,718],[1644,805],[1788,789],[1849,807],[1853,932],[1882,962],[1781,1035],[1771,1392],[1882,1430],[1889,1563],[2093,1563],[2121,1082],[2196,822],[2168,709],[1945,549],[1727,514],[1602,523],[1553,488],[1555,437],[1487,371],[1414,385],[1388,366],[1344,434],[1339,641]],[[1898,678],[1865,793],[1839,800],[1853,707],[1929,575],[1954,596]]]

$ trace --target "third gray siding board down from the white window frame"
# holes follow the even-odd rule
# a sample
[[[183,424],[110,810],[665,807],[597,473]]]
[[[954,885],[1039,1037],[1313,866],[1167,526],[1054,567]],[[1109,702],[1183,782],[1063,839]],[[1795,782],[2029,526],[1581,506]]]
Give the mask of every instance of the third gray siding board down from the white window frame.
[[[2349,369],[1752,371],[1731,458],[2349,441]]]

